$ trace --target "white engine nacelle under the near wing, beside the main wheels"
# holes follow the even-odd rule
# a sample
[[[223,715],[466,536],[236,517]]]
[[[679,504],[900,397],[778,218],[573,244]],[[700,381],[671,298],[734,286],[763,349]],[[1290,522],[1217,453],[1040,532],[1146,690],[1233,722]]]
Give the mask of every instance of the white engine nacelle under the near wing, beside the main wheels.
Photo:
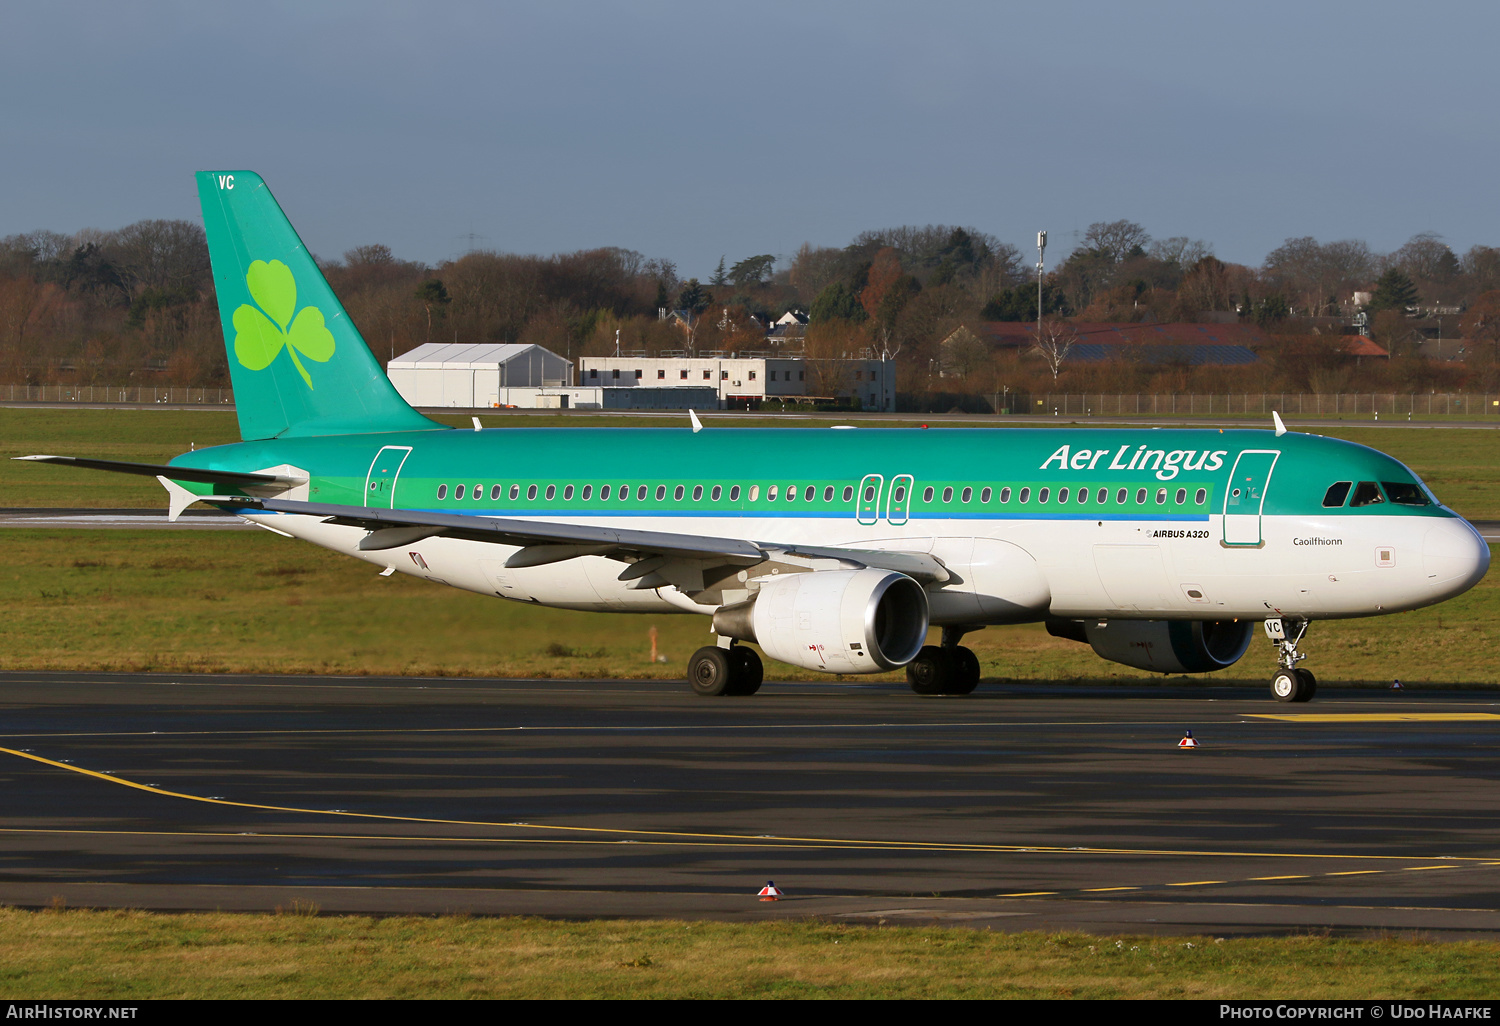
[[[927,592],[894,570],[814,570],[760,584],[723,606],[714,630],[771,658],[825,674],[880,674],[916,658],[927,639]]]

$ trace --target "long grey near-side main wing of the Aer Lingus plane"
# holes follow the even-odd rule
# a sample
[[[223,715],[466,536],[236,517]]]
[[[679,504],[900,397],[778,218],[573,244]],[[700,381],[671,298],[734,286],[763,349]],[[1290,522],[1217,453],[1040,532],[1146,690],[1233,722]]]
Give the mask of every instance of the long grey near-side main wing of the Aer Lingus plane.
[[[393,549],[422,538],[442,536],[519,546],[520,550],[512,554],[506,561],[506,566],[510,567],[536,567],[584,555],[621,558],[633,564],[621,574],[622,580],[644,579],[657,572],[666,572],[668,576],[672,576],[669,564],[676,561],[741,567],[753,567],[760,562],[789,562],[807,568],[876,567],[896,570],[922,582],[940,584],[950,579],[942,562],[926,552],[798,546],[795,543],[746,542],[702,534],[632,531],[588,524],[384,510],[278,498],[213,496],[207,501],[234,510],[261,508],[268,513],[320,516],[330,524],[364,528],[369,532],[360,540],[360,549],[364,552]]]

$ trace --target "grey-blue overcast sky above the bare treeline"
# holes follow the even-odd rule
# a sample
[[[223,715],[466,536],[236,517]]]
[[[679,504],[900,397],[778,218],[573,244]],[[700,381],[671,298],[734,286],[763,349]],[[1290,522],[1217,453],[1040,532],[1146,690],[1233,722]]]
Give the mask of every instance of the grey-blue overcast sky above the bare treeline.
[[[0,236],[200,219],[260,172],[324,258],[622,246],[708,278],[957,224],[1500,244],[1500,4],[9,4]]]

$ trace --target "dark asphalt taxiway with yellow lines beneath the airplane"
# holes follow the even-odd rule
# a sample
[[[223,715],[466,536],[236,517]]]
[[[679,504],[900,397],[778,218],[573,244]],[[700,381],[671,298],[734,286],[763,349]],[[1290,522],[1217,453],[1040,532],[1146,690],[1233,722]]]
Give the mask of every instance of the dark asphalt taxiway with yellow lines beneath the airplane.
[[[1491,692],[6,674],[0,711],[12,904],[1500,936]]]

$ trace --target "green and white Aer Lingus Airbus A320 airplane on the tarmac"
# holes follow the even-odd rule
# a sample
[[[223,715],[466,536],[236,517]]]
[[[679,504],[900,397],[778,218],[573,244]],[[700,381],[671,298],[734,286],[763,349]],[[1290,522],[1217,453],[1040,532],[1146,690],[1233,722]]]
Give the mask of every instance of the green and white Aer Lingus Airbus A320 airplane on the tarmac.
[[[147,474],[376,567],[513,602],[710,618],[687,666],[753,694],[764,663],[906,669],[966,694],[984,627],[1044,622],[1161,674],[1234,664],[1306,702],[1308,626],[1428,606],[1490,567],[1398,460],[1248,429],[454,429],[390,384],[260,176],[196,176],[240,442]],[[940,644],[928,645],[932,627]]]

